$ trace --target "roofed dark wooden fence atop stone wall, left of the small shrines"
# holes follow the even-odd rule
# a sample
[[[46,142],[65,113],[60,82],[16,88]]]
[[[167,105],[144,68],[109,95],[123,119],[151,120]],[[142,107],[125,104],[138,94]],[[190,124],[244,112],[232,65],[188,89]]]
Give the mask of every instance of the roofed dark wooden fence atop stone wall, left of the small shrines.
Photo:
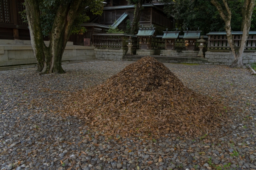
[[[100,49],[126,49],[126,40],[132,37],[133,49],[138,48],[138,39],[135,35],[124,33],[98,33],[93,34],[93,45]]]

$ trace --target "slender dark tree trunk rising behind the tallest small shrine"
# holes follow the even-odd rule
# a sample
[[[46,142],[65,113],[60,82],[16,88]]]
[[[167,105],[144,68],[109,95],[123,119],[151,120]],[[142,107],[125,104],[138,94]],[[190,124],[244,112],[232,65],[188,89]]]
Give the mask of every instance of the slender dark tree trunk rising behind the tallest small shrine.
[[[136,4],[135,10],[134,10],[134,17],[133,17],[133,21],[132,21],[132,28],[130,30],[130,34],[135,34],[137,27],[138,27],[138,23],[140,21],[140,14],[142,12],[142,10],[144,9],[144,7],[142,6],[142,4],[144,4],[146,0],[138,0],[138,3]]]

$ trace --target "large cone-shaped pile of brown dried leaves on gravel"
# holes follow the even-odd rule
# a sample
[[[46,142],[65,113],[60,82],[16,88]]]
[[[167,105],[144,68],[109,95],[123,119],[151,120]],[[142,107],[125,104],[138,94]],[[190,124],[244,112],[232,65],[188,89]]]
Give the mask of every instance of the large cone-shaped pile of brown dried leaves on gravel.
[[[193,92],[152,57],[132,63],[104,84],[66,99],[65,112],[105,135],[214,133],[225,119],[219,101]]]

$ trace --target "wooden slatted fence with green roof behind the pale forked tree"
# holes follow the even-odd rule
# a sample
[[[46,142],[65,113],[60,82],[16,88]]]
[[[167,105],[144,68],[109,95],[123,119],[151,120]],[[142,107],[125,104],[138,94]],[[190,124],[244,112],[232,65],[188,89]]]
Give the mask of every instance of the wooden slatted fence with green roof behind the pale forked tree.
[[[208,34],[208,51],[231,51],[226,32],[210,32]],[[232,32],[236,46],[240,46],[242,32]],[[256,50],[256,31],[250,31],[244,51]]]

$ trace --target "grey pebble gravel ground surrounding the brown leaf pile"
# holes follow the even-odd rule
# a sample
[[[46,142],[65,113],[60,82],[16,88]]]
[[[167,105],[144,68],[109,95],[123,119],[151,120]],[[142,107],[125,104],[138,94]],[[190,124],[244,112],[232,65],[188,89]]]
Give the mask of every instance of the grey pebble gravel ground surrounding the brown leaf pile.
[[[38,76],[36,68],[0,71],[1,169],[256,169],[256,76],[216,65],[170,64],[184,85],[223,100],[230,117],[216,134],[185,139],[112,138],[78,117],[60,117],[61,91],[102,83],[132,62],[64,64],[66,74]]]

